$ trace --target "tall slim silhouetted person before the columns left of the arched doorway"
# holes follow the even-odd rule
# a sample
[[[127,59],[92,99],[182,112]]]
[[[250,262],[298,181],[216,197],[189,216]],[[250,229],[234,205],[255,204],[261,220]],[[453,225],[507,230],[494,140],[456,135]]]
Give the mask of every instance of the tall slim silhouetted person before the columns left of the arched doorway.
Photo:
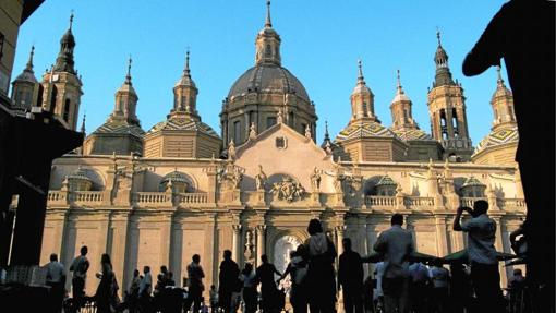
[[[240,267],[238,263],[231,260],[231,251],[223,251],[223,261],[220,263],[220,273],[218,275],[218,305],[223,312],[232,311],[232,293],[239,291]]]

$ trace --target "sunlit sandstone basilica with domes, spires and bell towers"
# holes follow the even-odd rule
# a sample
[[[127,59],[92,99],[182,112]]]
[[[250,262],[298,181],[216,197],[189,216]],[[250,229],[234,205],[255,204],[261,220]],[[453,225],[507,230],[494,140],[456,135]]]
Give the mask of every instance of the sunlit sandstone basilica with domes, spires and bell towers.
[[[527,206],[513,161],[512,96],[500,75],[493,82],[492,132],[474,147],[463,88],[452,79],[439,35],[427,95],[431,133],[413,119],[399,73],[390,104],[394,122],[382,123],[360,62],[350,120],[335,139],[326,129],[317,144],[316,107],[282,65],[280,44],[268,8],[256,35],[255,64],[221,104],[220,133],[198,115],[202,86],[193,80],[189,53],[167,119],[144,130],[135,115],[140,97],[130,60],[106,122],[80,151],[53,162],[41,262],[58,253],[69,265],[87,245],[89,273],[100,270],[107,252],[123,288],[144,265],[155,273],[167,265],[181,285],[191,256],[200,254],[210,286],[218,285],[225,250],[240,266],[258,265],[267,254],[283,270],[289,251],[307,239],[312,218],[322,220],[340,252],[349,237],[358,252],[371,253],[394,213],[406,217],[419,252],[444,256],[466,248],[466,237],[452,231],[451,222],[458,206],[478,198],[488,201],[497,222],[496,249],[510,252],[509,232]],[[83,85],[75,45],[70,26],[56,64],[40,81],[32,51],[13,82],[15,108],[41,106],[64,127],[77,128]],[[500,265],[504,284],[509,269]],[[88,293],[97,282],[90,274]]]

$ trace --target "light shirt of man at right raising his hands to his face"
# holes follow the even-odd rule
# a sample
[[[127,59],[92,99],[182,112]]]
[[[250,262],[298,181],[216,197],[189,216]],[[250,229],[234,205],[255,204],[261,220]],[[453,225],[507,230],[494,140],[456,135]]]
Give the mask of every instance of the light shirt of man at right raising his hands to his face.
[[[461,230],[468,233],[468,254],[470,262],[497,264],[496,221],[486,214],[471,218],[461,224]]]

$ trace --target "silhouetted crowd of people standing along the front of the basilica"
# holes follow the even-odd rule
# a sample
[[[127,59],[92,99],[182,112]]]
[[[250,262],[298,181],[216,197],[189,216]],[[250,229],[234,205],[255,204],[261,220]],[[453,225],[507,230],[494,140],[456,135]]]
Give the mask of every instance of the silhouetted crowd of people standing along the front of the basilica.
[[[245,263],[243,269],[232,260],[229,250],[223,252],[219,266],[218,289],[210,286],[209,301],[203,297],[205,273],[201,255],[194,254],[186,266],[183,288],[176,287],[172,272],[166,266],[153,281],[149,266],[143,274],[137,269],[124,298],[119,299],[119,286],[110,256],[102,254],[100,280],[94,296],[84,292],[87,270],[90,266],[87,248],[72,262],[73,297],[67,300],[65,312],[75,312],[87,301],[96,303],[97,312],[269,312],[286,309],[289,297],[294,313],[337,312],[341,298],[346,313],[363,312],[525,312],[523,292],[525,279],[516,269],[508,282],[507,299],[500,289],[498,260],[494,249],[496,222],[487,215],[488,203],[476,201],[473,209],[461,207],[454,220],[455,231],[468,233],[469,265],[450,264],[446,268],[440,258],[431,258],[427,264],[413,257],[413,237],[403,226],[403,216],[395,214],[391,227],[383,231],[373,249],[380,255],[374,273],[364,278],[363,265],[376,262],[371,256],[361,256],[353,251],[350,238],[342,240],[342,253],[337,257],[333,240],[323,231],[318,219],[307,227],[309,239],[290,252],[290,262],[280,273],[268,261],[261,257],[261,265]],[[470,214],[460,222],[463,212]],[[336,261],[338,260],[338,264]],[[47,265],[47,284],[51,287],[52,312],[60,312],[64,294],[65,270],[56,254]],[[280,281],[289,277],[288,290],[279,288]],[[337,294],[340,294],[337,297]],[[205,293],[206,294],[206,293]],[[521,297],[521,298],[520,298]],[[519,309],[519,310],[518,310]]]

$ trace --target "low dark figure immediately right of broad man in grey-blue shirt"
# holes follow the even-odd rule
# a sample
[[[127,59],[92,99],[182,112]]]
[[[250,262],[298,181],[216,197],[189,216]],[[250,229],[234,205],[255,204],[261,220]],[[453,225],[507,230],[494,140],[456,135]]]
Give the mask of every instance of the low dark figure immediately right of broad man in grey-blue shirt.
[[[431,298],[431,273],[421,262],[409,265],[411,275],[410,298],[411,308],[414,312],[428,312],[428,299]]]

